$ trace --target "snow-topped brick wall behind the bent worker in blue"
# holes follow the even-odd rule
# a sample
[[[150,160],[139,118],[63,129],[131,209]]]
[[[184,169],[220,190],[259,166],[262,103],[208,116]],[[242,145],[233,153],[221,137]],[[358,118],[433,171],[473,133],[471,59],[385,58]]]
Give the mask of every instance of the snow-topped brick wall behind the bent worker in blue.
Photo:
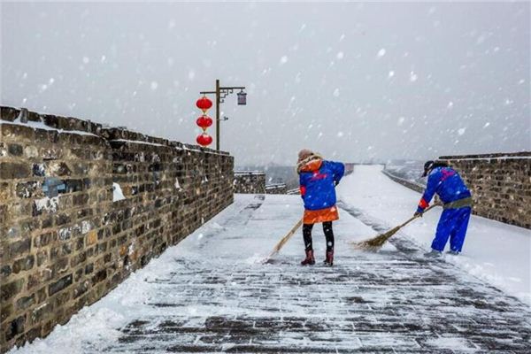
[[[443,156],[472,190],[477,215],[531,228],[531,152]]]

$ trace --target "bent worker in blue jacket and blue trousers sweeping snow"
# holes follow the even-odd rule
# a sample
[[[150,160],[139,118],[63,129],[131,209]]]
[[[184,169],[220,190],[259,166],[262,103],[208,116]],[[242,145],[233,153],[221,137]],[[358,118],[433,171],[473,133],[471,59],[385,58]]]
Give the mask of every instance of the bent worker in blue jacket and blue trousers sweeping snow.
[[[435,193],[443,202],[443,214],[439,219],[432,250],[427,257],[438,257],[450,238],[448,253],[458,255],[463,250],[466,228],[472,212],[472,194],[456,170],[439,161],[424,164],[427,187],[419,202],[415,216],[421,217]]]

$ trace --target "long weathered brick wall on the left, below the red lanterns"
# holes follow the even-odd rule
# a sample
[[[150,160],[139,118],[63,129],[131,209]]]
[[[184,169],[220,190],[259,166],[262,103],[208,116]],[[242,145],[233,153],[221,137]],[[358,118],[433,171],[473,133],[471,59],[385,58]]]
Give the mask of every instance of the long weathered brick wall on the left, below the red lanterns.
[[[227,153],[25,115],[12,124],[19,110],[1,107],[0,351],[48,335],[233,201]]]

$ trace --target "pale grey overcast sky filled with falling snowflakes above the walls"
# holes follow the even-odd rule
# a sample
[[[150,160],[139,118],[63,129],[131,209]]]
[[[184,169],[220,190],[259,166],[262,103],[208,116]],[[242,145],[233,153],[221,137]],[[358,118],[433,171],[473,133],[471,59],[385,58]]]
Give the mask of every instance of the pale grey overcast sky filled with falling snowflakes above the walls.
[[[531,150],[529,9],[4,3],[1,104],[195,142],[220,79],[236,165]]]

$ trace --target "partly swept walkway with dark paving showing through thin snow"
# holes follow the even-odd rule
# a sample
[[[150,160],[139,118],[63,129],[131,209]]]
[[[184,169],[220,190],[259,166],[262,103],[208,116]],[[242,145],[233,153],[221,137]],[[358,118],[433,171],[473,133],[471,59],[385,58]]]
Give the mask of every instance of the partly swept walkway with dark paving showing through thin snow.
[[[48,338],[13,351],[528,353],[530,313],[516,298],[444,259],[427,261],[404,235],[378,253],[350,248],[375,235],[381,220],[396,222],[364,210],[368,203],[347,193],[364,173],[380,175],[363,167],[341,185],[334,267],[321,265],[320,227],[316,266],[298,266],[300,231],[271,264],[262,264],[301,216],[300,197],[236,196],[226,211]],[[383,180],[373,182],[386,188]],[[407,206],[409,216],[414,203]],[[431,227],[432,220],[424,222]]]

